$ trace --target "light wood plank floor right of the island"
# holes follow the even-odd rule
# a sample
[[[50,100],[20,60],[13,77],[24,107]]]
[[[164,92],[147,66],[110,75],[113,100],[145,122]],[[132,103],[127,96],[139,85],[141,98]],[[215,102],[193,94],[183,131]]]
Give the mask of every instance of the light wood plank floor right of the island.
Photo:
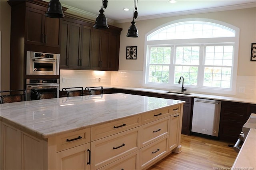
[[[232,143],[182,134],[182,152],[171,153],[148,170],[230,169],[237,153],[228,144]]]

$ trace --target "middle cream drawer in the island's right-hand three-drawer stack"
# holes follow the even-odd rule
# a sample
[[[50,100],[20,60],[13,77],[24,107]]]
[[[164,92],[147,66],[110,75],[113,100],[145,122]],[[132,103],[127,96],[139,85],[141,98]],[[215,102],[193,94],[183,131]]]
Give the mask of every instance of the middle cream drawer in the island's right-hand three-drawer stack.
[[[170,117],[142,125],[140,147],[144,147],[169,134]]]

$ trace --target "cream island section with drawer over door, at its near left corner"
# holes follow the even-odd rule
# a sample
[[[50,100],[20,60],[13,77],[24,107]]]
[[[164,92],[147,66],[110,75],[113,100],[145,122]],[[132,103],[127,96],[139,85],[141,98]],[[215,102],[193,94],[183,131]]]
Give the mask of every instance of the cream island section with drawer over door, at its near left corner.
[[[90,130],[48,138],[48,169],[90,170]]]

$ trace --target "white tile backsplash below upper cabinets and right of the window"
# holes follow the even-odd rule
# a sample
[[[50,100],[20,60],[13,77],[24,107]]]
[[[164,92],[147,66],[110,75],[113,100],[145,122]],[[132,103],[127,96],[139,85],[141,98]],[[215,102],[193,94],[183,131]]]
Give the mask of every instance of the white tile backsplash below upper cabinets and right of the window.
[[[142,86],[142,80],[143,71],[60,70],[60,90],[64,87],[111,87],[113,85],[145,88]],[[236,95],[231,97],[256,99],[256,77],[237,76]]]

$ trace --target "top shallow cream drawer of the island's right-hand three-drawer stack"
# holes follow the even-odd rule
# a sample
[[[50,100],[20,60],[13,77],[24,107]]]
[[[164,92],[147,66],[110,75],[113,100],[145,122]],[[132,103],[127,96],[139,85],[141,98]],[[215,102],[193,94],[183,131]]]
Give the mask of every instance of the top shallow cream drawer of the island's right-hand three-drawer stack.
[[[158,109],[156,111],[149,111],[142,114],[142,125],[162,119],[164,117],[170,116],[169,108]]]

